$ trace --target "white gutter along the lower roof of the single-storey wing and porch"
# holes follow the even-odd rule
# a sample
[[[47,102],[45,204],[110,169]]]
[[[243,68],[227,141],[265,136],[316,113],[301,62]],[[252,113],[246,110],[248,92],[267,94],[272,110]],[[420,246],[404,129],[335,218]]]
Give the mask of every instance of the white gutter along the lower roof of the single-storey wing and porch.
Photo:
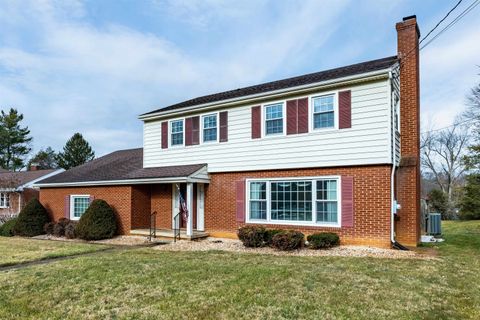
[[[62,182],[62,183],[39,183],[34,186],[37,188],[60,188],[60,187],[85,187],[85,186],[112,186],[112,185],[132,185],[132,184],[151,184],[151,183],[182,183],[199,182],[210,183],[210,179],[195,177],[172,177],[172,178],[154,178],[154,179],[130,179],[130,180],[102,180],[102,181],[83,181],[83,182]]]

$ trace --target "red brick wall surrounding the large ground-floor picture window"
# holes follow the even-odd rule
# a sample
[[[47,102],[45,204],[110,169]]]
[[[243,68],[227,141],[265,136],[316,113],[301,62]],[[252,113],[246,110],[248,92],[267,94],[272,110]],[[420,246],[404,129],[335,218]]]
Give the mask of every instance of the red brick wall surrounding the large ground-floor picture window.
[[[245,178],[278,178],[345,175],[354,177],[355,216],[353,228],[289,227],[306,234],[337,232],[343,243],[390,246],[390,174],[391,166],[363,166],[301,170],[274,170],[243,173],[212,173],[205,188],[205,229],[213,235],[234,235],[242,225],[236,221],[235,182]]]

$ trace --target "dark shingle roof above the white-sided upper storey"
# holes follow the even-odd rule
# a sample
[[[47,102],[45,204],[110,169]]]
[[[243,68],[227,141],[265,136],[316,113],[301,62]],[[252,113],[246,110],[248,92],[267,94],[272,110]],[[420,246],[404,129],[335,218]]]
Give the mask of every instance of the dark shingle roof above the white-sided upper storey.
[[[362,63],[352,64],[349,66],[330,69],[326,71],[320,71],[315,73],[310,73],[302,76],[297,76],[293,78],[277,80],[272,82],[267,82],[263,84],[258,84],[250,87],[210,94],[191,100],[186,100],[177,104],[173,104],[168,107],[160,108],[151,112],[142,114],[142,116],[150,115],[157,112],[169,111],[174,109],[182,109],[186,107],[192,107],[196,105],[213,103],[227,99],[239,98],[243,96],[249,96],[252,94],[266,93],[269,91],[287,89],[292,87],[298,87],[302,85],[312,84],[316,82],[322,82],[327,80],[333,80],[348,76],[353,76],[357,74],[378,71],[382,69],[387,69],[394,65],[397,62],[397,56],[391,56],[383,59],[371,60]]]

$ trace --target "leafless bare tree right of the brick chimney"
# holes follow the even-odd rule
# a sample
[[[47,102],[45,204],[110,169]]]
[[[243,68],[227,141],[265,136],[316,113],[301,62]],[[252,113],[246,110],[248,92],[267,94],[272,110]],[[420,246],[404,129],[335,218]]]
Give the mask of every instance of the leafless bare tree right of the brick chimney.
[[[422,168],[447,195],[450,206],[454,202],[455,187],[463,180],[466,170],[463,159],[469,139],[468,128],[458,122],[450,128],[427,132],[421,138]]]

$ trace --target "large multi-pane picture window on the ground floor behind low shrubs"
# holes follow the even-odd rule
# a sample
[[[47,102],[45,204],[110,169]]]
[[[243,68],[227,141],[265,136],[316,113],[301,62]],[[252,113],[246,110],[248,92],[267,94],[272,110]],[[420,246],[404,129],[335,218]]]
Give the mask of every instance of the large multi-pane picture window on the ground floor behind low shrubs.
[[[247,186],[248,222],[340,225],[339,177],[249,180]]]

